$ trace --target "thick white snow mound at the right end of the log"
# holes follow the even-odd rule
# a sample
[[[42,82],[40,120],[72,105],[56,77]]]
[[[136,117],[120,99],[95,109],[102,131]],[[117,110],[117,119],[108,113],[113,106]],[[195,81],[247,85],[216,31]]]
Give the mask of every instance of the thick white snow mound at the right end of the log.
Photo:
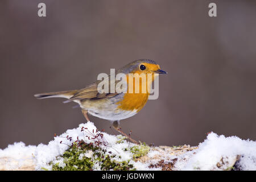
[[[196,154],[193,155],[192,152],[196,152]],[[187,157],[187,162],[178,162],[176,165],[180,166],[179,168],[182,170],[218,170],[217,163],[221,164],[223,160],[224,163],[226,161],[227,164],[231,164],[232,161],[236,162],[238,156],[240,156],[238,166],[242,170],[256,170],[255,141],[210,133],[207,139],[199,144],[196,151],[180,156]]]

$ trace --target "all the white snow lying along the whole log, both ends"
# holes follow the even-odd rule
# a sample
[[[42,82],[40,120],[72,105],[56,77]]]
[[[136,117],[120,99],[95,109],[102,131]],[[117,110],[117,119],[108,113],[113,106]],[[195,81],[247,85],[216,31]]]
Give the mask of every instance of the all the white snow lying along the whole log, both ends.
[[[81,128],[87,128],[81,131]],[[7,148],[0,149],[0,166],[4,165],[5,169],[18,169],[24,163],[26,159],[30,159],[34,162],[36,170],[42,170],[43,168],[51,169],[49,162],[59,162],[60,165],[65,165],[61,163],[61,159],[56,157],[63,154],[69,146],[79,137],[79,139],[85,140],[85,142],[92,142],[86,135],[88,133],[93,133],[96,131],[96,127],[92,122],[87,122],[80,124],[79,127],[72,130],[67,130],[65,133],[58,137],[55,137],[48,144],[39,144],[38,146],[25,146],[23,142],[18,142],[10,144]],[[127,147],[133,147],[135,144],[129,143],[123,140],[121,143],[117,143],[119,140],[114,135],[104,134],[104,139],[107,141],[105,150],[107,152],[112,152],[112,154],[117,155],[114,160],[123,161],[130,160],[130,163],[134,165],[137,170],[159,170],[160,168],[149,168],[150,164],[155,164],[157,161],[149,160],[148,162],[135,162],[133,159],[133,154],[124,149]],[[72,137],[71,140],[67,139]],[[61,142],[62,141],[62,142]],[[150,150],[148,152],[148,157],[153,158],[156,155],[161,155],[160,152],[155,150]],[[92,156],[92,151],[87,151],[82,156]],[[118,158],[121,156],[121,158]],[[2,164],[2,160],[15,159],[15,163]],[[180,155],[164,154],[162,159],[168,162],[172,159],[177,158],[174,169],[175,170],[220,170],[228,169],[232,167],[234,162],[237,161],[237,167],[242,170],[256,170],[256,142],[253,140],[242,140],[238,137],[224,137],[224,135],[218,136],[215,133],[210,133],[204,142],[199,144],[198,149],[185,152]],[[94,165],[93,169],[100,170],[98,164]],[[221,166],[221,167],[220,167]],[[0,167],[1,168],[1,167]]]

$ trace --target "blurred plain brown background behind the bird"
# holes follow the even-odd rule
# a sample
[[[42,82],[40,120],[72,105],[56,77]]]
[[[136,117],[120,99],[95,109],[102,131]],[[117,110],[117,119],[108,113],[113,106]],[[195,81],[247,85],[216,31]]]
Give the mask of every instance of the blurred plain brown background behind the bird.
[[[255,140],[255,22],[256,1],[0,1],[0,148],[48,143],[86,122],[74,104],[35,93],[83,88],[137,59],[168,75],[158,100],[121,122],[134,139],[197,145],[214,131]]]

